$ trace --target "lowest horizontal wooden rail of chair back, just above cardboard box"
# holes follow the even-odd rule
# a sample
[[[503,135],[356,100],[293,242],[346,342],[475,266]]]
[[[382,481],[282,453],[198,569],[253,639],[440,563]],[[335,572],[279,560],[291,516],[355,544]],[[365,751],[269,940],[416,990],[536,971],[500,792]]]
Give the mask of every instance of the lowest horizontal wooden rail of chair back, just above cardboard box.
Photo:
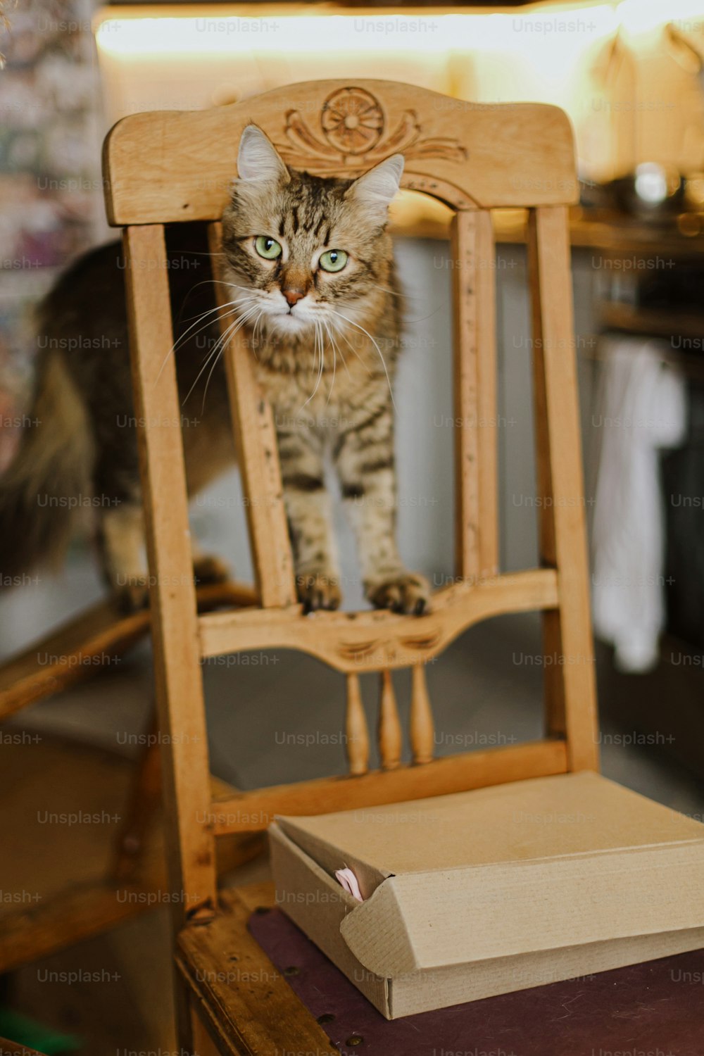
[[[423,767],[401,766],[395,770],[374,770],[361,777],[323,777],[243,792],[229,799],[214,800],[210,821],[218,836],[228,832],[255,832],[267,828],[277,814],[329,814],[564,774],[566,770],[564,740],[530,741],[444,756]]]

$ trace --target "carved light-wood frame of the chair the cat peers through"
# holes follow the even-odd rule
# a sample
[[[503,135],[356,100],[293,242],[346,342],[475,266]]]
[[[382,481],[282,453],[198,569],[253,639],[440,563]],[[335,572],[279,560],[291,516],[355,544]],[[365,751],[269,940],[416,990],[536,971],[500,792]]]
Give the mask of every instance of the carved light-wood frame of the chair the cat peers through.
[[[164,224],[207,221],[216,248],[240,136],[250,121],[289,165],[320,175],[356,176],[401,152],[406,159],[402,186],[454,211],[455,409],[463,423],[455,431],[458,580],[438,590],[432,611],[420,618],[388,611],[303,616],[272,413],[240,338],[228,345],[226,359],[249,498],[258,605],[197,615],[188,574],[180,431],[140,432],[159,722],[163,731],[179,735],[164,748],[172,889],[183,891],[174,913],[179,1041],[188,1053],[207,1051],[214,1042],[224,1053],[273,1056],[332,1050],[323,1027],[286,980],[271,974],[246,930],[253,906],[271,902],[270,890],[242,889],[218,898],[218,836],[263,828],[275,813],[315,814],[597,769],[597,750],[567,212],[577,184],[566,115],[538,105],[475,107],[392,81],[335,80],[275,89],[205,112],[145,113],[121,120],[106,142],[104,175],[110,222],[125,228],[134,394],[141,421],[178,419]],[[540,567],[511,574],[498,570],[491,210],[499,207],[529,210],[537,490],[544,499]],[[545,737],[433,759],[424,664],[477,621],[531,609],[543,612],[545,653],[569,658],[547,668]],[[346,676],[349,776],[213,802],[201,663],[220,654],[265,648],[302,649]],[[413,672],[411,765],[401,762],[389,677],[404,666]],[[382,766],[376,772],[368,770],[362,672],[381,673]],[[244,975],[247,981],[241,984],[218,981],[228,959],[259,967],[259,975]]]

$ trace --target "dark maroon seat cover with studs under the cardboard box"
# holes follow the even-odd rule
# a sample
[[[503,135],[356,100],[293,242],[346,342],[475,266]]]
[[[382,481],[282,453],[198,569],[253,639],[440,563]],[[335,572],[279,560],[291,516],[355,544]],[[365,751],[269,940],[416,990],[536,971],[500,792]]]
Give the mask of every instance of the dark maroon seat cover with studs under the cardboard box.
[[[389,1022],[281,910],[249,928],[344,1056],[704,1056],[704,950]]]

